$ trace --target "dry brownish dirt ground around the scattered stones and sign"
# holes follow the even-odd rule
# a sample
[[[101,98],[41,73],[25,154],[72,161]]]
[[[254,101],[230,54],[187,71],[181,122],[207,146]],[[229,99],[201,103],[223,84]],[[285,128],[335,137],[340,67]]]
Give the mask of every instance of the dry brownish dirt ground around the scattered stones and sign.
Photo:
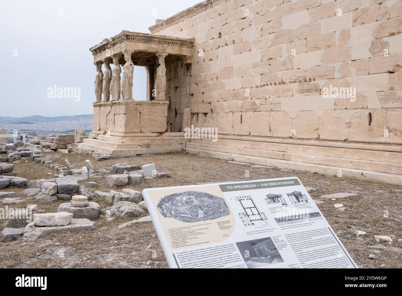
[[[55,153],[52,160],[53,163],[64,164],[66,158],[74,165],[74,168],[81,168],[84,166],[84,161],[90,159],[96,170],[107,170],[112,164],[125,161],[141,166],[155,163],[158,171],[169,173],[169,178],[147,180],[146,188],[297,176],[304,186],[316,189],[311,190],[310,195],[315,200],[324,201],[318,207],[359,267],[402,268],[402,243],[398,242],[398,239],[402,238],[402,187],[328,177],[308,172],[254,168],[251,165],[229,163],[220,159],[197,157],[185,153],[143,155],[99,162],[88,155]],[[55,172],[43,164],[32,163],[31,159],[28,162],[21,162],[21,164],[14,164],[14,172],[28,180],[47,178],[47,173]],[[246,170],[249,171],[248,177],[245,176]],[[98,182],[97,190],[109,192],[110,189],[105,187],[103,180],[103,177],[91,179],[91,181]],[[29,185],[27,188],[32,187]],[[123,188],[142,190],[141,187],[135,186]],[[14,191],[16,194],[12,197],[24,198],[23,202],[8,204],[8,207],[21,208],[28,204],[36,204],[38,209],[43,212],[55,212],[58,205],[64,203],[64,201],[51,203],[37,201],[34,197],[24,196],[22,194],[24,189],[6,188],[0,191]],[[119,188],[117,191],[121,189]],[[336,201],[321,198],[322,195],[332,193],[356,193],[357,195]],[[101,209],[108,206],[105,203],[105,197],[98,198],[96,202]],[[333,206],[335,203],[343,204],[347,208],[346,211],[337,211]],[[1,205],[1,207],[4,206]],[[384,217],[386,216],[384,211],[388,211],[388,217]],[[168,265],[152,222],[133,224],[123,229],[118,228],[119,225],[131,220],[132,218],[120,218],[107,222],[106,219],[97,219],[95,220],[95,231],[51,234],[25,244],[22,240],[0,242],[0,267],[167,268]],[[0,229],[2,229],[2,222],[0,220]],[[368,236],[363,240],[357,240],[355,230],[367,232]],[[390,246],[385,243],[377,243],[374,235],[388,235],[396,239]],[[152,257],[154,251],[156,251],[156,257],[155,255]],[[374,254],[376,259],[369,259],[369,254]],[[148,261],[152,261],[152,263]]]

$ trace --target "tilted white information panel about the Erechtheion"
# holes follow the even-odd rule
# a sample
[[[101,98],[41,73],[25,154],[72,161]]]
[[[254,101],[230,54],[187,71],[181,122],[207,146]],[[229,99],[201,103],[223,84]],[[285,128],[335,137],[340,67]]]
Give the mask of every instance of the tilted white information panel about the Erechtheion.
[[[297,177],[142,195],[171,268],[357,268]]]

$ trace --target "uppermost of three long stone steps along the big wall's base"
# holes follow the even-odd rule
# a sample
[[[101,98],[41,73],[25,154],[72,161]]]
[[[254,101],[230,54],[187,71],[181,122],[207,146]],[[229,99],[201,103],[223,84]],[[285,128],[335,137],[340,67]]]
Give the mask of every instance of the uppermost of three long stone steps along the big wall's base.
[[[267,141],[269,141],[269,139],[267,139]],[[213,142],[212,139],[191,139],[191,143],[213,144],[225,147],[235,147],[238,149],[251,148],[251,149],[261,149],[267,151],[300,153],[307,155],[320,155],[328,157],[341,157],[348,159],[359,159],[367,161],[387,162],[392,164],[402,164],[402,153],[400,152],[375,151],[366,149],[338,148],[338,147],[325,147],[325,146],[319,147],[319,146],[293,144],[293,143],[272,143],[263,141],[245,141],[245,140],[234,140],[234,139],[217,139],[217,141],[215,142]]]

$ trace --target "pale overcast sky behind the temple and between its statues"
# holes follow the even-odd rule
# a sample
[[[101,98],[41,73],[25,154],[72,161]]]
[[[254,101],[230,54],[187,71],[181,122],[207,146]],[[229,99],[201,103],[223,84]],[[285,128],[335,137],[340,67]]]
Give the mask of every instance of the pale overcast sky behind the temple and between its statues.
[[[166,19],[199,2],[2,1],[0,116],[92,114],[96,69],[89,48],[122,30],[150,33],[148,27],[156,19]],[[133,84],[133,98],[145,99],[144,68],[134,67]],[[48,98],[48,89],[54,85],[75,87],[77,92],[80,88],[80,101]]]

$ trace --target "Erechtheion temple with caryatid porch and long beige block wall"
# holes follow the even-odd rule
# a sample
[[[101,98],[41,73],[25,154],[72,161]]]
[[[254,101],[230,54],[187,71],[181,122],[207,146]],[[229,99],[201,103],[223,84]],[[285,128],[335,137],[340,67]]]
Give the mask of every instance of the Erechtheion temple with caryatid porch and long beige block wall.
[[[149,29],[90,48],[94,130],[78,152],[402,184],[402,1],[207,0]],[[136,66],[147,101],[132,92]],[[185,137],[191,126],[217,139]]]

